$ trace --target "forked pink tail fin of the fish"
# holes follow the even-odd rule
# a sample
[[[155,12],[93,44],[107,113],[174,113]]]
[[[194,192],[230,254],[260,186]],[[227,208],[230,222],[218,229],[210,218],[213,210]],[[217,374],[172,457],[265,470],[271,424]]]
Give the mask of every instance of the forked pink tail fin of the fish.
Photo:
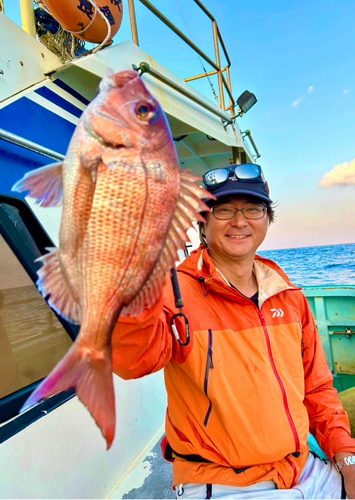
[[[29,410],[40,401],[75,389],[106,439],[107,449],[115,437],[116,408],[111,350],[97,350],[75,342],[66,356],[41,382],[22,406]]]

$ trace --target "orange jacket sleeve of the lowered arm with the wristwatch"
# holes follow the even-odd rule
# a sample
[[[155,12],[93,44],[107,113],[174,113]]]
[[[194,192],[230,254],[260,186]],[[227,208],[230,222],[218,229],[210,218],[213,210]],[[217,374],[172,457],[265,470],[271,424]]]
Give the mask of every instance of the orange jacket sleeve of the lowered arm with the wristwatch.
[[[333,459],[339,451],[355,453],[355,439],[350,437],[350,424],[333,387],[333,376],[328,368],[317,326],[304,300],[303,313],[303,365],[305,374],[305,400],[310,432],[326,455]]]

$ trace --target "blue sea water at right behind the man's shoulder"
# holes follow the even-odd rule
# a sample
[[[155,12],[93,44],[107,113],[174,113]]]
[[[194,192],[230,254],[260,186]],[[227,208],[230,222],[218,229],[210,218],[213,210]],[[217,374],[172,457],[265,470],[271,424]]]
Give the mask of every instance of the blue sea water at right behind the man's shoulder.
[[[276,262],[295,285],[355,285],[355,243],[258,253]]]

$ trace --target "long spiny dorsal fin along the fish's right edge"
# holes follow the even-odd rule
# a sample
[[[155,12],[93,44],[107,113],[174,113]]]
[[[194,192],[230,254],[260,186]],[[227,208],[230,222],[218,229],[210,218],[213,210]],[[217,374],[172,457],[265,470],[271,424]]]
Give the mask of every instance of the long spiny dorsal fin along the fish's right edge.
[[[166,273],[175,267],[175,262],[179,260],[178,250],[184,248],[188,240],[186,231],[193,221],[204,222],[199,212],[209,212],[210,209],[202,199],[214,199],[214,196],[198,187],[196,181],[201,182],[201,179],[186,170],[180,171],[179,197],[159,260],[139,294],[122,309],[121,316],[138,316],[145,306],[155,304],[161,296]]]

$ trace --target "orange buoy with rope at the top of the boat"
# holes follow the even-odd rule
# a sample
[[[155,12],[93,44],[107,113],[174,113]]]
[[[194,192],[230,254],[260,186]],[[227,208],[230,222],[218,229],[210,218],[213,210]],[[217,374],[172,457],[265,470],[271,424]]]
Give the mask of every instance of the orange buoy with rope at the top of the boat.
[[[108,34],[107,21],[111,27],[110,38],[116,35],[121,26],[122,0],[42,0],[42,2],[66,31],[70,31],[84,42],[103,42]]]

